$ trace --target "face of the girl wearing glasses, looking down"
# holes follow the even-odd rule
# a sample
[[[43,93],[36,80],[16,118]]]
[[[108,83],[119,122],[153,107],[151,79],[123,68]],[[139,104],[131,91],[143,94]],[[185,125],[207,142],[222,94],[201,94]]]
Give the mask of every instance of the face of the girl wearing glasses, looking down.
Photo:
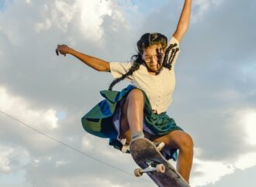
[[[164,49],[161,44],[154,44],[144,49],[142,55],[144,62],[147,65],[148,72],[156,72],[162,66],[164,61]]]

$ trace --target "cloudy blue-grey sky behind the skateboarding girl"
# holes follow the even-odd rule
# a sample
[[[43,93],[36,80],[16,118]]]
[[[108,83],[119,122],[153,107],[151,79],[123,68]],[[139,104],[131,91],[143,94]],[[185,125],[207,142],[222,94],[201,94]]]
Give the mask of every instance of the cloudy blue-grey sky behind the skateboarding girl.
[[[130,155],[81,126],[111,74],[54,50],[66,44],[126,62],[145,32],[170,39],[183,3],[0,0],[0,186],[155,186],[133,176]],[[192,135],[192,186],[256,186],[255,8],[250,0],[192,2],[167,111]]]

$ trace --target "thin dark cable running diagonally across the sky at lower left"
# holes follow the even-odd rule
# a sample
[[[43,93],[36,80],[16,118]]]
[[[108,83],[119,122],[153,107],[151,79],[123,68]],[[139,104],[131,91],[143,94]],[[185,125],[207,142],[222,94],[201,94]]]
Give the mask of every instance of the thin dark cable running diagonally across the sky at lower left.
[[[71,145],[67,145],[67,144],[64,143],[64,142],[59,141],[59,140],[57,140],[56,138],[51,137],[51,136],[49,136],[48,134],[45,134],[45,133],[43,133],[42,131],[39,131],[39,130],[37,130],[36,128],[31,127],[29,124],[26,124],[26,123],[20,121],[20,120],[17,119],[16,117],[12,117],[10,114],[6,114],[5,112],[3,112],[3,111],[1,111],[1,110],[0,110],[0,112],[1,112],[2,114],[5,114],[5,116],[12,118],[12,119],[15,120],[15,121],[18,121],[20,124],[23,124],[24,126],[26,126],[26,128],[30,128],[30,129],[32,129],[33,131],[36,131],[37,133],[42,134],[43,136],[45,136],[45,137],[47,137],[47,138],[50,138],[51,140],[56,141],[57,143],[59,143],[59,144],[61,144],[61,145],[64,145],[64,146],[67,147],[67,148],[70,148],[70,149],[72,149],[72,150],[74,150],[74,151],[77,151],[77,152],[80,153],[81,155],[84,155],[84,156],[86,156],[86,157],[88,157],[88,158],[91,158],[92,160],[95,160],[96,162],[100,162],[100,163],[102,163],[103,165],[109,166],[110,168],[115,168],[116,170],[119,170],[120,172],[126,173],[127,175],[132,175],[132,176],[134,176],[134,175],[133,175],[132,173],[130,173],[130,172],[126,172],[125,170],[123,170],[123,169],[121,169],[121,168],[118,168],[118,167],[116,167],[116,166],[114,166],[114,165],[109,165],[108,163],[103,162],[103,161],[99,160],[98,158],[95,158],[95,157],[93,157],[93,156],[91,156],[91,155],[88,155],[88,154],[86,154],[85,152],[80,151],[79,149],[72,147]],[[145,182],[150,182],[150,181],[147,180],[147,179],[142,179],[142,178],[140,178],[140,179],[141,179],[141,180],[144,180]],[[152,183],[152,182],[150,182],[150,183]]]

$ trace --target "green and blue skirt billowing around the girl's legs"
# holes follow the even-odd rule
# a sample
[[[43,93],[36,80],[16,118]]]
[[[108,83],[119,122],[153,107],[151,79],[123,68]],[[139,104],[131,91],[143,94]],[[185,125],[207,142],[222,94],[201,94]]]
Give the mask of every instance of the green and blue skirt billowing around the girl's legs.
[[[116,131],[116,128],[113,124],[113,115],[117,107],[119,107],[119,102],[124,99],[130,90],[133,90],[133,85],[129,85],[121,91],[113,90],[102,90],[100,91],[102,97],[105,97],[105,100],[99,102],[95,105],[92,110],[89,110],[84,117],[81,118],[81,123],[85,131],[100,138],[109,138],[109,145],[112,145],[114,148],[121,149],[122,143],[118,140],[119,132]],[[150,130],[150,134],[155,136],[163,136],[168,134],[170,131],[182,130],[179,128],[175,121],[168,117],[166,112],[161,114],[154,114],[150,101],[148,100],[147,94],[144,93],[144,124]],[[164,150],[163,155],[167,159],[177,159],[177,150],[168,149]]]

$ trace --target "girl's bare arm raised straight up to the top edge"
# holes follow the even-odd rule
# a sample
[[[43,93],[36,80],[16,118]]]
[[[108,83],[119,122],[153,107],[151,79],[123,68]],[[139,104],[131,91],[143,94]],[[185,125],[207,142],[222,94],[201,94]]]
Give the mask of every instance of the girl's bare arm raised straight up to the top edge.
[[[185,32],[189,29],[191,6],[192,6],[192,0],[185,0],[182,8],[182,14],[178,21],[177,29],[173,35],[175,36],[175,39],[178,39],[179,42],[182,40],[183,36],[185,35]]]

